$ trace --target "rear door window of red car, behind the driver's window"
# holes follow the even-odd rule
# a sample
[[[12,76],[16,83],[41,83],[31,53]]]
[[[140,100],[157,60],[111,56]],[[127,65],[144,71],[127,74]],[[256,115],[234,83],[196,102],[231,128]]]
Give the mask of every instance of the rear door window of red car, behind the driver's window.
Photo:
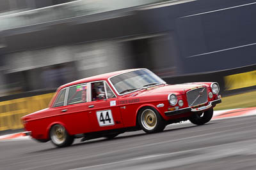
[[[67,104],[87,102],[86,93],[87,93],[87,84],[70,87],[68,91]]]

